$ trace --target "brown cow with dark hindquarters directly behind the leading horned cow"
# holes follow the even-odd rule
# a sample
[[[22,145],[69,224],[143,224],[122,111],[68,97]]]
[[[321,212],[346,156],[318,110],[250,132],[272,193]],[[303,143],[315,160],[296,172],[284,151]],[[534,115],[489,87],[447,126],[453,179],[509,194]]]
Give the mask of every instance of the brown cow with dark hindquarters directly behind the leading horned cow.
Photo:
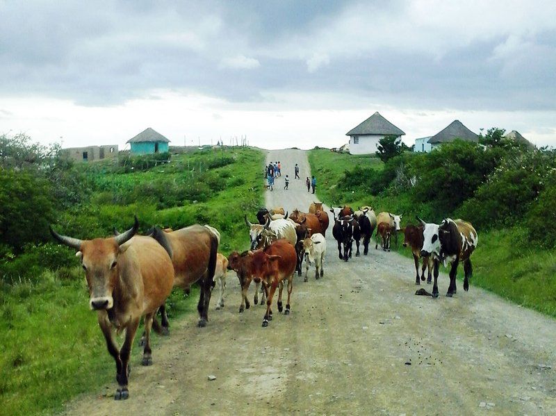
[[[211,290],[214,285],[214,271],[218,252],[218,237],[206,226],[195,224],[169,233],[154,227],[152,237],[163,247],[172,252],[174,265],[174,286],[186,292],[195,282],[199,282],[201,294],[197,310],[199,322],[197,326],[206,326],[208,321],[208,303],[211,301]],[[161,308],[163,326],[167,326],[165,308]]]

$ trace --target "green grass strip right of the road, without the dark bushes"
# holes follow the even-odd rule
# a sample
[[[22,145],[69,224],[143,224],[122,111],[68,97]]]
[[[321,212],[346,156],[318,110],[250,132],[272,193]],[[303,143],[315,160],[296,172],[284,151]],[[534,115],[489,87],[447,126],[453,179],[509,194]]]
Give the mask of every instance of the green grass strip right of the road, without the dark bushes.
[[[337,184],[342,180],[345,170],[353,169],[361,163],[370,163],[373,167],[381,169],[381,162],[375,158],[339,155],[326,149],[316,149],[309,152],[309,163],[311,172],[325,176],[317,188],[321,201],[330,201],[333,205],[346,203],[354,208],[369,205],[375,208],[376,213],[383,210],[404,213],[402,226],[416,224],[415,216],[423,215],[419,207],[414,206],[403,195],[381,197],[363,192],[338,190]],[[520,238],[523,231],[518,226],[486,232],[477,231],[479,244],[472,258],[471,285],[490,290],[518,305],[556,317],[556,279],[553,278],[556,273],[556,253],[528,246],[525,238]],[[516,241],[523,241],[523,244],[516,244]],[[411,251],[401,247],[401,242],[400,238],[400,247],[393,247],[393,251],[411,258]],[[463,269],[459,267],[458,272],[461,278]],[[413,279],[413,275],[407,276],[408,283],[413,282]]]

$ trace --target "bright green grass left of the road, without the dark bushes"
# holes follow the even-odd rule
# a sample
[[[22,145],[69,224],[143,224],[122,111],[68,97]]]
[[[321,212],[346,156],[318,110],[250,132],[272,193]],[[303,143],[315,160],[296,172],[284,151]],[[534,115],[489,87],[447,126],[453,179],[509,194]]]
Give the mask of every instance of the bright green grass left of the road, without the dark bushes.
[[[69,235],[79,232],[76,237],[81,238],[90,237],[90,233],[97,236],[99,229],[102,235],[109,235],[108,224],[124,228],[137,213],[142,229],[149,224],[172,228],[195,222],[211,224],[222,233],[220,251],[227,254],[232,249],[246,249],[248,238],[243,213],[252,212],[263,200],[260,172],[265,155],[256,149],[227,149],[224,155],[216,155],[218,158],[213,153],[177,156],[165,167],[133,174],[111,174],[101,164],[91,165],[88,175],[96,186],[106,190],[94,195],[90,206],[65,213],[58,230]],[[224,158],[226,162],[220,163]],[[208,170],[202,176],[206,186],[193,188],[197,185],[194,176],[183,187],[188,187],[188,192],[197,192],[202,201],[176,206],[163,199],[159,192],[167,190],[168,184],[176,186],[175,194],[179,197],[182,187],[179,178],[188,176],[191,170],[188,167],[193,165]],[[161,183],[157,188],[152,184],[157,185],[158,180]],[[214,190],[212,181],[218,185]],[[137,192],[138,186],[145,188],[131,194]],[[108,197],[124,194],[130,198],[145,194],[148,198],[129,203],[108,201]],[[196,313],[197,300],[197,290],[189,297],[174,290],[167,302],[170,317]],[[1,414],[55,413],[63,408],[65,401],[81,393],[98,391],[103,385],[110,386],[108,392],[113,393],[113,360],[106,351],[96,315],[88,308],[88,291],[78,265],[54,271],[42,269],[33,281],[2,284],[0,317]],[[174,320],[172,326],[179,324]],[[155,360],[156,344],[171,340],[171,336],[167,340],[153,337]],[[119,341],[122,342],[121,337]],[[140,349],[134,345],[131,365],[140,365],[139,360]]]

